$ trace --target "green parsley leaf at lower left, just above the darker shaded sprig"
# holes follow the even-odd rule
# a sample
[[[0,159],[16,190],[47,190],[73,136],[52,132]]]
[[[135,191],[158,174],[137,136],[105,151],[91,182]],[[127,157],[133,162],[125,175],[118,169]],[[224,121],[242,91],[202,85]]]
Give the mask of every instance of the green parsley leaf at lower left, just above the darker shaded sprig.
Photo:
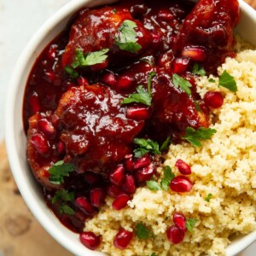
[[[49,168],[49,182],[56,185],[64,183],[64,177],[69,177],[69,172],[73,172],[73,164],[64,163],[63,160],[56,162]]]

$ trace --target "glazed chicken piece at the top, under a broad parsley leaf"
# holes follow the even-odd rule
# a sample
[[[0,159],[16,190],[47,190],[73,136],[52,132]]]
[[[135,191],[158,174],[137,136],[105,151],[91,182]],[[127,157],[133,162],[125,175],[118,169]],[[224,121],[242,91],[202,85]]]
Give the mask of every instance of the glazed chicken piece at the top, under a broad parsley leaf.
[[[134,29],[137,32],[137,44],[142,47],[137,53],[143,52],[150,43],[150,33],[140,21],[131,17],[128,9],[113,9],[112,7],[94,10],[85,9],[80,12],[79,17],[73,23],[69,41],[62,56],[62,66],[66,67],[73,63],[76,49],[83,49],[84,55],[102,49],[109,49],[108,55],[110,55],[112,64],[113,61],[120,61],[120,58],[113,58],[113,55],[123,55],[124,57],[136,55],[137,53],[121,50],[117,44],[114,44],[115,38],[120,36],[119,27],[125,20],[136,23],[137,27]],[[124,61],[124,59],[121,61]],[[102,67],[106,66],[103,65]]]

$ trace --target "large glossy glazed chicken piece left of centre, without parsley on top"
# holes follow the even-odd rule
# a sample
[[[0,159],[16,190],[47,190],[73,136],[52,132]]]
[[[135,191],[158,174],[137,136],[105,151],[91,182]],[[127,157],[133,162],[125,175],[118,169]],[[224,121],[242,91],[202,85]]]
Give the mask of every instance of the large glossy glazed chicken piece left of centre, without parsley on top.
[[[61,119],[61,140],[77,172],[108,172],[131,154],[132,141],[144,121],[125,117],[123,96],[100,84],[73,87],[62,97],[55,114]]]

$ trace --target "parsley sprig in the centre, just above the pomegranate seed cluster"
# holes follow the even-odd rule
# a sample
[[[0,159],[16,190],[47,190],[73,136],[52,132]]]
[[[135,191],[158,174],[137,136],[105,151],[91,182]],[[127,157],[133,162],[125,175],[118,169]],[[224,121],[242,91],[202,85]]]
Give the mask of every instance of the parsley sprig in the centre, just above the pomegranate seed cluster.
[[[159,144],[150,140],[150,139],[144,139],[144,138],[135,138],[133,140],[133,143],[137,144],[139,148],[136,148],[134,152],[134,157],[140,158],[144,154],[147,154],[148,152],[152,152],[153,154],[161,154],[159,149]]]

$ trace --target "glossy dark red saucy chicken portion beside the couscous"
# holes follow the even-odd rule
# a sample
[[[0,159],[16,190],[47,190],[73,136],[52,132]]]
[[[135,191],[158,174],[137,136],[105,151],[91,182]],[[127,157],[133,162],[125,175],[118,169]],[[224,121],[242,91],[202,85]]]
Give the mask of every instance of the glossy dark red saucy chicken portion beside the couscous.
[[[107,194],[125,206],[153,177],[160,150],[145,152],[137,138],[179,143],[187,127],[208,127],[192,70],[216,73],[234,55],[238,20],[233,0],[121,1],[80,10],[44,49],[26,85],[27,159],[69,229],[81,232]]]

